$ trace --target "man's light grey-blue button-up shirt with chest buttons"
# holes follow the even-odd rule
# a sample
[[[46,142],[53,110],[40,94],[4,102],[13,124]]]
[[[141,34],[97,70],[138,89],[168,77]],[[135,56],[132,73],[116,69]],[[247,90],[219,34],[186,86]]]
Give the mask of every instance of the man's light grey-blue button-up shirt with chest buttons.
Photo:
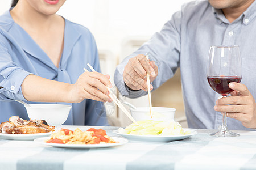
[[[142,90],[129,91],[122,73],[130,58],[148,52],[159,69],[157,78],[152,82],[154,89],[172,78],[177,67],[180,67],[188,126],[218,129],[222,125],[222,114],[214,111],[213,107],[220,95],[210,88],[206,73],[209,47],[240,46],[243,66],[241,83],[249,88],[256,99],[255,16],[256,2],[232,23],[208,1],[188,2],[164,24],[160,32],[122,61],[115,71],[115,85],[123,96],[133,98],[147,94]],[[228,118],[227,124],[229,129],[251,130],[233,118]]]

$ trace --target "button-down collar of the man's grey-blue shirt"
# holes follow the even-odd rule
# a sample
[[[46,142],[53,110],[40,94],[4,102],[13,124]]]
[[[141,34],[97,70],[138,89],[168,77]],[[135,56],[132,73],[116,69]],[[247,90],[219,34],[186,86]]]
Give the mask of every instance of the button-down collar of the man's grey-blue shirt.
[[[228,19],[226,19],[225,15],[223,14],[222,10],[216,9],[212,7],[212,11],[214,16],[218,19],[219,23],[227,23],[230,24]],[[243,24],[247,25],[253,20],[256,16],[256,2],[254,1],[243,14],[238,17],[236,20],[242,20]]]

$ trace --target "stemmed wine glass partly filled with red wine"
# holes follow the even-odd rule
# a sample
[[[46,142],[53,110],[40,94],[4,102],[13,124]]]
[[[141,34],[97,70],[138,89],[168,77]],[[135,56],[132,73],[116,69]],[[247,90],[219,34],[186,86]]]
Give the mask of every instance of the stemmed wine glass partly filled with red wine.
[[[210,46],[207,63],[207,80],[210,87],[222,97],[228,96],[233,90],[229,83],[240,83],[242,78],[242,63],[238,45]],[[226,126],[226,112],[222,112],[221,130],[210,135],[218,137],[236,137],[240,134],[229,131]]]

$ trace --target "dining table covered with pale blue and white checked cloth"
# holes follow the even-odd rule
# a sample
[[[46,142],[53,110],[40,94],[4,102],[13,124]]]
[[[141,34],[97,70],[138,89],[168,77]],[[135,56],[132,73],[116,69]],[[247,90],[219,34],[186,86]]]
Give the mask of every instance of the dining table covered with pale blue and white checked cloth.
[[[104,129],[110,137],[120,137],[113,133],[119,128],[115,126],[56,126],[61,128]],[[2,138],[0,169],[256,169],[256,131],[232,130],[240,136],[212,137],[209,134],[216,130],[193,130],[197,134],[178,141],[129,141],[103,148],[63,148]]]

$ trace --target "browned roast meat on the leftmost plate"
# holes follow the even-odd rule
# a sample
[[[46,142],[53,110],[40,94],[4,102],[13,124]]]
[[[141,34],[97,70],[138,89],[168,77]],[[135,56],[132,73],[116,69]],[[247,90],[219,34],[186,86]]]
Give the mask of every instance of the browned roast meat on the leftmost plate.
[[[5,134],[35,134],[54,131],[54,126],[49,126],[45,120],[23,120],[12,116],[9,121],[0,124],[0,133]]]

